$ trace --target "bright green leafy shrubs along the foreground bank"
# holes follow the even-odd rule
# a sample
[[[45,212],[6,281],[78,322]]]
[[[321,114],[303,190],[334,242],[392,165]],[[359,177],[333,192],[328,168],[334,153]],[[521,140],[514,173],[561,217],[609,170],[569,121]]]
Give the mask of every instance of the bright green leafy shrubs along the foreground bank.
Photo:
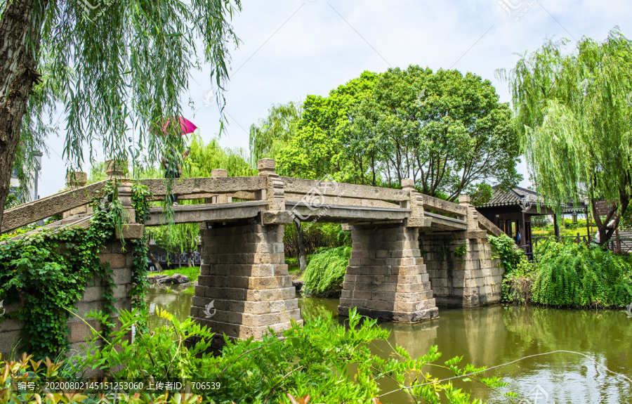
[[[376,320],[360,318],[350,312],[348,327],[324,318],[305,320],[305,325],[294,323],[282,335],[274,333],[253,339],[230,341],[220,354],[209,351],[213,333],[200,327],[192,318],[183,322],[160,309],[157,314],[169,323],[152,332],[136,330],[132,342],[131,329],[138,312],[121,311],[119,330],[100,334],[93,330],[88,341],[86,356],[66,360],[62,364],[34,363],[25,356],[20,362],[0,363],[0,404],[4,403],[96,403],[105,395],[112,403],[378,403],[374,400],[381,393],[380,382],[390,379],[395,391],[409,393],[411,401],[428,403],[481,403],[456,388],[452,380],[440,381],[428,373],[428,366],[442,372],[461,376],[455,379],[468,383],[482,382],[497,391],[507,386],[497,377],[479,378],[485,367],[459,365],[463,357],[443,363],[438,362],[437,347],[430,348],[421,358],[411,358],[400,346],[395,346],[388,358],[372,352],[376,340],[387,339],[388,330],[376,325]],[[195,341],[191,341],[195,339]],[[105,346],[96,344],[103,341]],[[20,381],[55,382],[62,377],[68,379],[83,370],[96,369],[106,374],[110,382],[132,379],[157,382],[168,380],[189,382],[190,393],[181,391],[133,391],[132,394],[113,391],[79,391],[72,396],[43,394],[12,389]],[[468,374],[467,379],[463,377]],[[191,384],[202,381],[206,386]],[[461,381],[454,381],[459,382]],[[213,383],[213,385],[210,385]],[[220,385],[217,386],[216,384]],[[413,386],[414,385],[414,386]],[[146,386],[146,384],[145,384]],[[125,389],[123,387],[123,389]],[[185,391],[189,389],[185,388]],[[83,393],[80,395],[80,393]],[[301,398],[294,400],[294,398]],[[515,397],[515,393],[506,393]]]

